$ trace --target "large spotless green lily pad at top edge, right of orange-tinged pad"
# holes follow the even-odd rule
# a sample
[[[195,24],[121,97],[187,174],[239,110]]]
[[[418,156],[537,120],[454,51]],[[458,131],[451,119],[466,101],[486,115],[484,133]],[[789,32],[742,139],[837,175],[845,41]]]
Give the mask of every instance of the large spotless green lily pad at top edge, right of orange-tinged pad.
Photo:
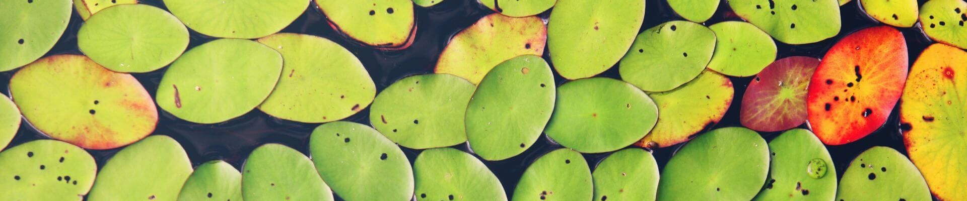
[[[634,42],[644,16],[641,0],[557,2],[547,23],[551,63],[568,79],[611,69]]]

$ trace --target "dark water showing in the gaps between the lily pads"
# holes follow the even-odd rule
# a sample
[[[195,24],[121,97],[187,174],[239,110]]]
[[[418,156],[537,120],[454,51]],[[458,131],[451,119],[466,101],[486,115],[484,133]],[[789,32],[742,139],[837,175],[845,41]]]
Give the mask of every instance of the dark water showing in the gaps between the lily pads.
[[[647,13],[645,14],[644,24],[641,26],[642,31],[665,21],[682,20],[681,17],[672,12],[664,0],[646,1]],[[923,4],[923,2],[921,0],[920,3]],[[164,8],[161,0],[142,0],[141,3]],[[321,36],[345,46],[359,57],[366,66],[369,75],[375,81],[377,89],[381,91],[394,81],[407,75],[432,72],[440,51],[443,50],[454,34],[470,26],[484,15],[492,13],[492,11],[477,3],[476,0],[447,0],[429,9],[416,7],[418,30],[415,42],[409,48],[397,51],[376,50],[341,36],[326,24],[325,15],[321,14],[315,8],[314,3],[309,5],[305,14],[302,14],[302,16],[282,30],[282,32]],[[540,14],[540,16],[547,18],[549,14],[550,12],[548,11]],[[842,30],[835,38],[822,43],[804,45],[777,43],[777,58],[788,56],[822,58],[826,50],[843,36],[866,27],[879,25],[879,22],[867,17],[860,10],[857,1],[843,6],[840,14],[842,17]],[[718,13],[706,22],[705,25],[711,25],[725,20],[742,19],[735,14],[731,14],[727,4],[723,1],[718,8]],[[83,21],[79,15],[73,14],[67,32],[46,56],[64,53],[80,54],[77,48],[76,34],[82,23]],[[911,66],[917,56],[920,55],[920,52],[923,51],[923,48],[931,43],[923,36],[920,28],[918,28],[919,26],[918,24],[914,28],[899,29],[906,38]],[[213,40],[215,38],[203,36],[192,31],[189,48]],[[546,53],[548,51],[545,49],[544,52],[544,59],[550,61]],[[161,69],[157,72],[134,74],[134,76],[144,85],[144,88],[150,94],[154,95],[158,90],[158,83],[161,81],[161,76],[164,71],[165,69]],[[14,72],[0,72],[0,88],[7,88],[10,77],[13,74]],[[602,73],[600,76],[620,78],[617,67]],[[556,73],[555,78],[558,85],[566,81]],[[742,95],[751,78],[731,79],[736,90],[735,100],[732,101],[731,107],[718,125],[709,129],[741,127],[739,123],[739,106],[742,102]],[[188,152],[193,164],[200,164],[212,159],[222,159],[233,164],[236,168],[241,168],[249,152],[265,143],[284,144],[308,154],[308,135],[312,129],[318,126],[315,124],[302,124],[279,120],[257,109],[242,117],[216,125],[193,124],[177,119],[161,110],[161,108],[158,111],[160,113],[158,129],[153,134],[169,135],[180,142],[185,147],[185,151]],[[345,119],[345,121],[369,125],[368,114],[368,109],[364,109],[358,114]],[[890,120],[876,132],[847,145],[827,146],[833,156],[837,176],[842,176],[850,160],[872,146],[888,146],[905,154],[906,149],[903,146],[902,137],[900,136],[898,119],[897,111],[894,109]],[[31,140],[47,138],[44,134],[36,131],[36,129],[31,129],[26,123],[23,123],[20,128],[20,131],[11,143],[11,147]],[[806,126],[804,125],[802,128],[806,128]],[[764,132],[762,135],[767,140],[771,140],[778,133]],[[663,167],[668,161],[668,158],[671,158],[674,151],[680,146],[654,150],[653,153],[655,158],[658,159],[659,167]],[[469,152],[466,144],[456,145],[454,148]],[[513,187],[516,185],[520,175],[527,168],[527,165],[542,156],[543,153],[558,148],[561,148],[561,146],[554,144],[546,137],[542,137],[533,147],[520,156],[501,161],[484,161],[484,163],[497,175],[508,194],[512,195]],[[411,162],[420,153],[419,150],[402,149],[406,153],[406,156],[410,158]],[[103,166],[106,160],[117,151],[118,149],[89,152],[97,159],[99,166]],[[584,155],[592,168],[606,156],[607,154]]]

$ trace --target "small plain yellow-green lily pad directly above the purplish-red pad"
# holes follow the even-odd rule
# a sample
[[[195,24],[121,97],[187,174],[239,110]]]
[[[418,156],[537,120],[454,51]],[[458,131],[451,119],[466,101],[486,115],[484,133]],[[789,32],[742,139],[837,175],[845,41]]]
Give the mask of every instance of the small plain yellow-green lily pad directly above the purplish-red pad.
[[[776,61],[776,43],[748,22],[723,21],[709,28],[718,37],[709,70],[729,76],[751,76]]]

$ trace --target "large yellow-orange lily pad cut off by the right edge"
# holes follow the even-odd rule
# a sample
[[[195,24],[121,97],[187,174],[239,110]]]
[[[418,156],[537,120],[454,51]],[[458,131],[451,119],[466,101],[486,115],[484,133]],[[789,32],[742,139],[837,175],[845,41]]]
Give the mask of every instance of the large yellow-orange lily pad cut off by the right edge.
[[[930,191],[941,200],[967,199],[967,117],[960,92],[967,89],[967,52],[947,44],[923,50],[910,69],[900,98],[900,122],[910,160],[920,168]]]

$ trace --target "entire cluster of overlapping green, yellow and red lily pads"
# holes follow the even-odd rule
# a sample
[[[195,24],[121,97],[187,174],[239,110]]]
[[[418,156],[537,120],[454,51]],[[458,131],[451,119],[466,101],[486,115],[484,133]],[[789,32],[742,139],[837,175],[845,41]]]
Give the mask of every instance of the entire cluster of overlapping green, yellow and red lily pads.
[[[19,69],[0,99],[0,148],[21,116],[50,138],[0,152],[0,199],[967,200],[963,0],[861,0],[884,25],[849,33],[821,59],[777,59],[776,42],[834,38],[848,1],[730,0],[745,20],[706,26],[720,1],[667,0],[685,20],[639,33],[642,0],[481,0],[495,14],[457,33],[434,73],[378,95],[340,44],[278,33],[317,8],[355,43],[405,49],[418,34],[414,6],[442,1],[0,1],[0,71]],[[73,10],[86,20],[84,55],[41,58]],[[894,27],[938,43],[910,67]],[[220,39],[188,49],[190,30]],[[621,80],[597,76],[616,65]],[[162,68],[154,94],[131,74]],[[732,105],[730,76],[753,77],[744,128],[705,131]],[[880,129],[896,105],[909,158],[873,147],[838,179],[826,146]],[[366,107],[371,127],[340,121]],[[177,141],[148,136],[158,108],[196,124],[257,108],[321,125],[308,156],[270,143],[241,171],[192,167]],[[767,142],[757,131],[782,133]],[[542,134],[564,148],[533,161],[509,196],[481,159],[519,156]],[[451,148],[463,143],[472,153]],[[679,144],[659,173],[649,150]],[[422,151],[411,164],[400,147]],[[99,171],[85,149],[120,151]],[[612,154],[582,156],[598,153]]]

